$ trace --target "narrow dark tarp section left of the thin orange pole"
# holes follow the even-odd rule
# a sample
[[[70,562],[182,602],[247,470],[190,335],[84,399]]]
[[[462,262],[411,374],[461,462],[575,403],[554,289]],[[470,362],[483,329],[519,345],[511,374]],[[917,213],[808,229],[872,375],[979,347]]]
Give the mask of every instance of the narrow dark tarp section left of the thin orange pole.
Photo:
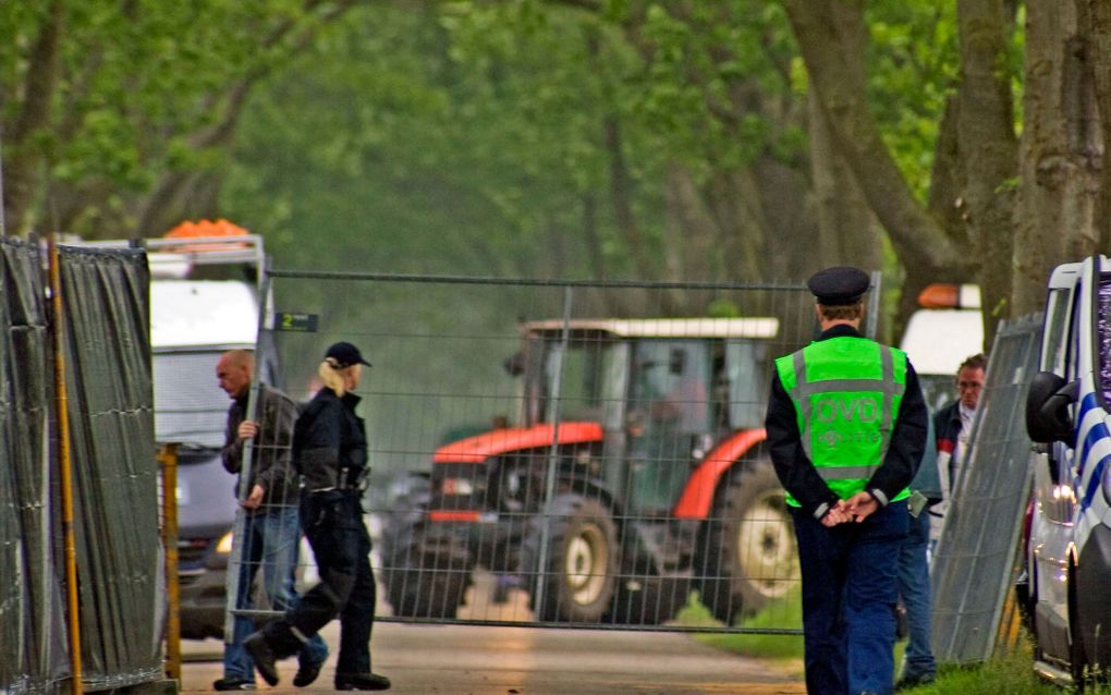
[[[0,687],[41,689],[69,673],[48,428],[52,371],[42,261],[0,244]]]

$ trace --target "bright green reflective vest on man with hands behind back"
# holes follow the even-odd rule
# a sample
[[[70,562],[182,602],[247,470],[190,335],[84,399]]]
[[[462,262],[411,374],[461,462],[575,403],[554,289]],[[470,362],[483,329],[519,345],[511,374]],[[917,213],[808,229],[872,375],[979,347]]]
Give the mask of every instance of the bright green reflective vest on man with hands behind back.
[[[811,342],[775,360],[799,418],[802,448],[838,497],[852,497],[883,463],[907,387],[907,354],[867,338]],[[905,499],[903,489],[891,502]],[[788,504],[799,503],[790,495]]]

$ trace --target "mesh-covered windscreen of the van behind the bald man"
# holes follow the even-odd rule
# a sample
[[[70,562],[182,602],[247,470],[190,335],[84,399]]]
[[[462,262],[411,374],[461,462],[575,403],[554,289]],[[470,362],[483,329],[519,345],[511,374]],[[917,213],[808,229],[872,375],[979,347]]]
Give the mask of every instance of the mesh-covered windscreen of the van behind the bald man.
[[[157,353],[154,439],[200,448],[223,446],[231,400],[216,379],[222,350]]]

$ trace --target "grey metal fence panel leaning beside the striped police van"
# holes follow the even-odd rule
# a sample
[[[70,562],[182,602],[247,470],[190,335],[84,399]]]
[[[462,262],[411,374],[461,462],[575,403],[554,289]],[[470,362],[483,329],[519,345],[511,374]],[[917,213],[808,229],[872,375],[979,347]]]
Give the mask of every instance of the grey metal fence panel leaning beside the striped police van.
[[[982,662],[995,647],[1030,495],[1023,408],[1040,330],[1040,317],[1003,322],[988,360],[968,466],[955,481],[932,566],[933,647],[941,662]]]

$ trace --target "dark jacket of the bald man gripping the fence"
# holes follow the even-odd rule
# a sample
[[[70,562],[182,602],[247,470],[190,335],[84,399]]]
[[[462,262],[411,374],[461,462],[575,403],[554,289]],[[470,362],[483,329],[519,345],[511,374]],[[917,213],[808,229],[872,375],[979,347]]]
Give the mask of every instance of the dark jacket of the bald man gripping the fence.
[[[262,507],[276,505],[296,505],[298,499],[298,479],[290,460],[290,444],[293,435],[293,423],[297,420],[297,404],[281,391],[260,384],[258,389],[258,408],[254,421],[259,434],[252,445],[250,480],[247,485],[249,495],[254,485],[264,490]],[[239,425],[247,419],[247,405],[250,389],[232,401],[228,408],[228,426],[224,429],[224,445],[220,451],[223,467],[228,473],[239,474],[243,465],[243,443],[239,438]]]

